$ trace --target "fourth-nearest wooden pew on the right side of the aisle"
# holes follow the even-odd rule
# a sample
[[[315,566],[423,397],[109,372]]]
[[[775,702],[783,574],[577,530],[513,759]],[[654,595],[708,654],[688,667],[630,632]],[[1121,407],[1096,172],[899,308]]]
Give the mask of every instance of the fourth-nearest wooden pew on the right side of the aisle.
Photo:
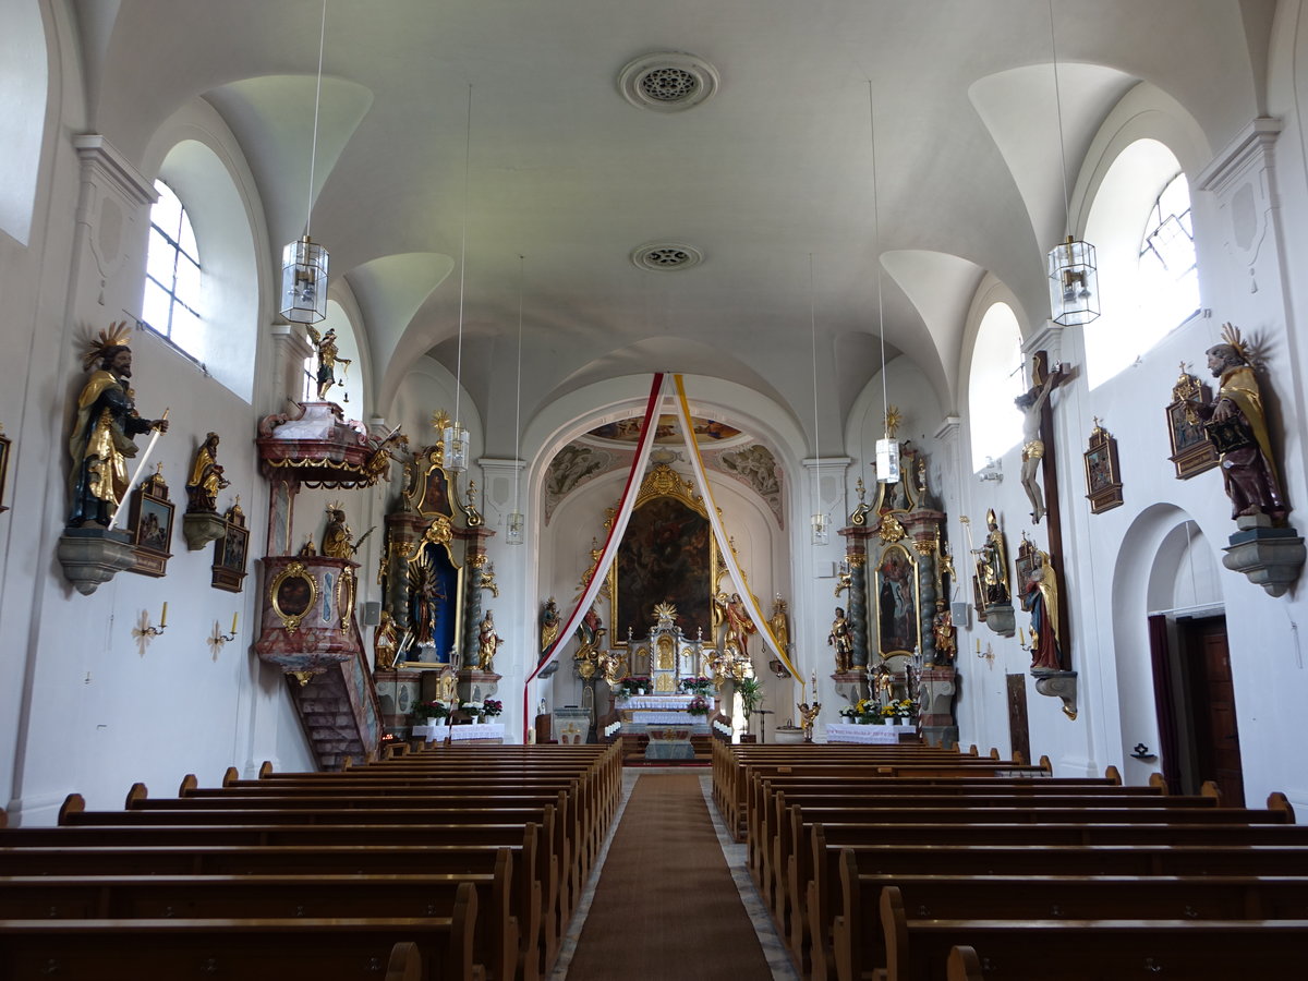
[[[823,855],[820,862],[815,861],[815,878],[808,883],[806,912],[808,937],[812,938],[808,952],[814,978],[835,976],[829,938],[833,910],[840,903],[841,869],[848,861],[842,854],[845,852],[861,876],[1308,876],[1308,846],[1303,845],[849,845]]]

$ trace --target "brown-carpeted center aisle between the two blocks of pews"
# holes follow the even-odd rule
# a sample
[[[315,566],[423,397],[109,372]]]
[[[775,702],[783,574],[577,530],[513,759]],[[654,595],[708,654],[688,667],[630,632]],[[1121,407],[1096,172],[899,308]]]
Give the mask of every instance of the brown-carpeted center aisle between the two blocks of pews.
[[[772,981],[695,773],[636,781],[568,981]]]

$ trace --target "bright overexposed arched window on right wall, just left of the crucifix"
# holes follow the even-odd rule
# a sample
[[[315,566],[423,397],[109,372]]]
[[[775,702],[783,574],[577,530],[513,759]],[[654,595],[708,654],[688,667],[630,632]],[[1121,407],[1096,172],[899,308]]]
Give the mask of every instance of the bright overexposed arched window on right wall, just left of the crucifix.
[[[1007,303],[991,303],[977,328],[968,382],[973,471],[1022,441],[1022,412],[1012,403],[1023,391],[1018,318]]]

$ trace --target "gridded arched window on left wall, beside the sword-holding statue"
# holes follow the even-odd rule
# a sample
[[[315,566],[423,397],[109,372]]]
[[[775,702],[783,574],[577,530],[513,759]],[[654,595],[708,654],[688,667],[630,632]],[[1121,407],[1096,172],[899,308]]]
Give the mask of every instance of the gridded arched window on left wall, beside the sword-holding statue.
[[[200,352],[200,255],[195,229],[182,200],[162,181],[150,208],[150,242],[145,258],[141,318],[182,351]]]

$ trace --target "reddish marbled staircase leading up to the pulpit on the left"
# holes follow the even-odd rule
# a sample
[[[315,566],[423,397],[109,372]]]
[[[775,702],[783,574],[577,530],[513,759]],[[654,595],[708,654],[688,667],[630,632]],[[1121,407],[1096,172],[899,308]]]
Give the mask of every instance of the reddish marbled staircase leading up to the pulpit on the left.
[[[373,672],[353,621],[351,629],[360,651],[354,657],[313,675],[305,685],[286,675],[290,697],[320,770],[339,770],[347,757],[356,763],[370,760],[381,742],[382,712]]]

